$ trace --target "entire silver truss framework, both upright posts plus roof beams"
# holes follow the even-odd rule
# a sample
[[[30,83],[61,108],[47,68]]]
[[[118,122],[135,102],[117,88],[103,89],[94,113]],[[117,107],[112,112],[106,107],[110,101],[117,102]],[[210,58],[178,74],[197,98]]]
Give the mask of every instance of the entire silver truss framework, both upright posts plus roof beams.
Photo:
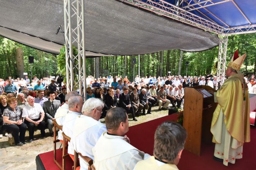
[[[195,26],[199,29],[209,31],[220,35],[218,66],[217,66],[217,81],[220,81],[220,75],[222,74],[221,84],[224,82],[225,67],[226,67],[226,55],[227,55],[227,41],[228,35],[242,34],[242,33],[255,33],[256,24],[250,24],[248,26],[229,27],[220,18],[217,18],[211,11],[208,11],[206,7],[220,4],[224,2],[233,2],[233,0],[219,0],[213,2],[213,0],[177,0],[176,4],[170,4],[165,0],[119,0],[123,3],[130,4],[141,9],[145,9],[156,13],[157,15],[165,16],[179,22]],[[185,2],[185,3],[184,3]],[[68,91],[79,88],[79,93],[86,98],[86,55],[85,55],[85,43],[84,43],[84,0],[63,0],[64,3],[64,24],[65,24],[65,42],[66,42],[66,79]],[[239,9],[240,13],[247,19],[245,14]],[[220,26],[211,18],[208,18],[198,9],[204,8],[204,10],[211,13],[215,18],[223,23],[224,26]],[[204,15],[205,18],[199,17],[190,12],[197,10],[197,12]],[[76,24],[73,24],[76,20]],[[250,22],[249,22],[250,23]],[[75,27],[72,27],[75,26]],[[82,39],[81,39],[82,37]],[[77,46],[77,55],[73,55],[72,46]],[[76,71],[76,72],[74,72]],[[78,71],[78,73],[77,73]],[[84,89],[83,89],[84,86]]]

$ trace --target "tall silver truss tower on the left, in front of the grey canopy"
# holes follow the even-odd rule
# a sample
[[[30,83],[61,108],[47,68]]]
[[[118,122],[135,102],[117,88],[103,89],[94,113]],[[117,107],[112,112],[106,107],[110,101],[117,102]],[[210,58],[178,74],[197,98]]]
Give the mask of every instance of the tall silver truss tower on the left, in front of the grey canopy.
[[[85,98],[84,0],[63,0],[63,4],[67,89],[68,91],[79,89],[79,94]],[[73,45],[77,47],[77,55],[73,54]]]

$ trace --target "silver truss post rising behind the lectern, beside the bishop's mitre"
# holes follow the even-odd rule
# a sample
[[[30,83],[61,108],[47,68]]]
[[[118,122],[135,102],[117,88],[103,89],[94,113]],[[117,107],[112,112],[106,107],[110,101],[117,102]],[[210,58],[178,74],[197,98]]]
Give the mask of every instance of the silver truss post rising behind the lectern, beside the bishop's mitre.
[[[224,83],[224,78],[225,78],[227,46],[228,46],[228,35],[220,35],[219,55],[218,55],[218,65],[217,65],[217,83],[220,83],[220,86]],[[222,75],[221,78],[220,78],[220,75]],[[218,86],[216,85],[216,90],[217,89],[218,89]]]

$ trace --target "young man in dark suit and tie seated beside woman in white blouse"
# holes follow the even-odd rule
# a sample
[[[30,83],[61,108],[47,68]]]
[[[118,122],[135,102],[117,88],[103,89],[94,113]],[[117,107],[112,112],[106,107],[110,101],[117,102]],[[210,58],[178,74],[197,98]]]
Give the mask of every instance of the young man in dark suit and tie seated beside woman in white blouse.
[[[49,92],[49,98],[50,100],[43,103],[43,111],[45,112],[45,122],[48,123],[48,129],[49,129],[50,135],[53,136],[52,121],[55,120],[54,116],[57,109],[61,105],[61,102],[55,99],[54,91]]]

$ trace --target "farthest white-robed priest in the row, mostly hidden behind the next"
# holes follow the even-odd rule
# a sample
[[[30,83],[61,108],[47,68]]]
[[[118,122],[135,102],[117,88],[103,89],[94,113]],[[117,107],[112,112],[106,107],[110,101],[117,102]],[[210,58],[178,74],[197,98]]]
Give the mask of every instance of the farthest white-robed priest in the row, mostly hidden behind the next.
[[[61,106],[57,109],[55,113],[55,120],[59,126],[63,126],[63,123],[65,121],[65,117],[68,114],[68,99],[71,96],[79,96],[79,94],[76,91],[70,91],[68,94],[65,96],[65,103],[61,104]],[[62,130],[59,130],[58,132],[58,139],[63,141],[63,136],[62,136]]]

